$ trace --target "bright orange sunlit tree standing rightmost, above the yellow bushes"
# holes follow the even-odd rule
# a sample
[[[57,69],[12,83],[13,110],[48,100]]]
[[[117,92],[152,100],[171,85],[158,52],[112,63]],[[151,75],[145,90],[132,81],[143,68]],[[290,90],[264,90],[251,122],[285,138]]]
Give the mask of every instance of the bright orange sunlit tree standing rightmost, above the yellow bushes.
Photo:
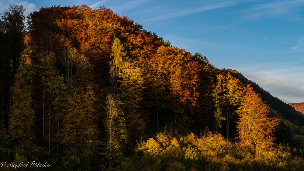
[[[262,101],[250,85],[244,89],[242,105],[237,114],[237,135],[241,142],[268,147],[275,141],[274,131],[278,125],[275,118],[269,117],[269,106]]]

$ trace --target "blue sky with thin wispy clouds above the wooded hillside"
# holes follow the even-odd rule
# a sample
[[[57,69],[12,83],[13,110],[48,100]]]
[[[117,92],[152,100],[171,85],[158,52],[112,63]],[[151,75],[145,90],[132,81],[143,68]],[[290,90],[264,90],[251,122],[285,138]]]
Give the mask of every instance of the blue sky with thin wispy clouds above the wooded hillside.
[[[106,6],[173,46],[232,68],[287,103],[304,102],[304,0],[0,0],[23,5]]]

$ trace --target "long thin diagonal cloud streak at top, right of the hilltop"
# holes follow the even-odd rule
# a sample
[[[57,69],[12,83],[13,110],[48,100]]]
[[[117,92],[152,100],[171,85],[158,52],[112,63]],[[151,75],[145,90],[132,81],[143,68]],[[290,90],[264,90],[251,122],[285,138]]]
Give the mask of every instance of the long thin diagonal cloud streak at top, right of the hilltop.
[[[199,8],[193,8],[193,9],[188,9],[188,10],[183,10],[183,11],[177,10],[177,11],[174,11],[174,12],[171,12],[168,14],[164,14],[162,16],[154,17],[154,18],[147,19],[147,20],[142,20],[142,22],[150,22],[150,21],[155,21],[155,20],[174,18],[174,17],[189,15],[189,14],[212,10],[212,9],[226,8],[226,7],[230,7],[230,6],[234,6],[234,5],[239,5],[241,3],[244,3],[244,2],[218,2],[216,4],[204,5]]]

